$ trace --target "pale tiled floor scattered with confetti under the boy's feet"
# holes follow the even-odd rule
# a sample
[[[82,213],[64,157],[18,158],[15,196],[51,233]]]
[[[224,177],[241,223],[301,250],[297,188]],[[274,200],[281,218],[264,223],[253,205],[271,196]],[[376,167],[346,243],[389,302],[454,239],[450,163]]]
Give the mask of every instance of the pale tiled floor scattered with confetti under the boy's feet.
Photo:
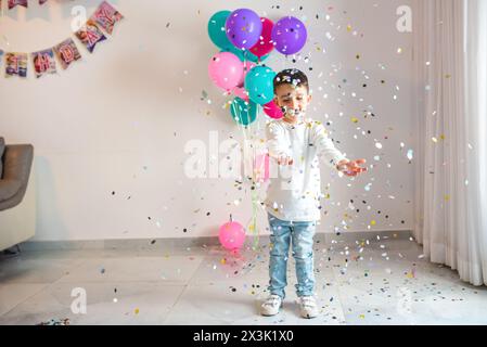
[[[321,314],[298,317],[291,261],[287,297],[273,318],[268,247],[218,246],[25,252],[0,259],[0,324],[487,324],[487,288],[423,258],[409,240],[316,243]],[[74,313],[75,288],[87,312]],[[76,306],[76,305],[75,305]]]

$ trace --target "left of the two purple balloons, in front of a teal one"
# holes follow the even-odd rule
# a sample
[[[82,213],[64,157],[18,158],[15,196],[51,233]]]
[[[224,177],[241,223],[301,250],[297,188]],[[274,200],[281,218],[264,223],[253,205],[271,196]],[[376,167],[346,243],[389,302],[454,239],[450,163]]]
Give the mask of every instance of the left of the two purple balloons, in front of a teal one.
[[[262,22],[257,13],[248,9],[233,11],[226,23],[227,37],[239,49],[251,49],[260,39]]]

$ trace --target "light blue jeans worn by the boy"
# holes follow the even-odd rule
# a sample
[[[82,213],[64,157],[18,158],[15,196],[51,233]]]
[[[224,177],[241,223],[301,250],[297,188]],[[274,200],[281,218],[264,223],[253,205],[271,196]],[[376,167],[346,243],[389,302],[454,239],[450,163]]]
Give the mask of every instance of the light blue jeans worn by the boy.
[[[296,261],[296,294],[298,297],[315,293],[315,272],[312,237],[316,221],[293,222],[275,218],[268,214],[270,235],[269,292],[284,298],[287,285],[287,258],[290,244],[293,243],[293,257]]]

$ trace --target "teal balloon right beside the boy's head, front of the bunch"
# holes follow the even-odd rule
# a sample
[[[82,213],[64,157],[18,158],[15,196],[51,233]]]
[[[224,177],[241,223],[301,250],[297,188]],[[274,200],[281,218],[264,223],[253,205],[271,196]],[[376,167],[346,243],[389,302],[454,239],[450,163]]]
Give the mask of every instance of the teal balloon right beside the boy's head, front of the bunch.
[[[251,101],[265,105],[274,99],[275,73],[267,66],[256,66],[245,76],[245,89]]]

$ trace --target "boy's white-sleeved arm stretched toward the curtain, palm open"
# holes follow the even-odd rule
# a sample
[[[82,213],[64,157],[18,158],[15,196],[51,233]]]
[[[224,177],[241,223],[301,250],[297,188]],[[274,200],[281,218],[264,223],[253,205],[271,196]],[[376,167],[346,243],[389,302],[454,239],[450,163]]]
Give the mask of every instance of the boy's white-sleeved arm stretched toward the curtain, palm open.
[[[366,164],[366,159],[347,159],[328,137],[323,125],[315,125],[313,134],[312,144],[317,146],[317,154],[320,158],[323,158],[328,165],[349,177],[356,177],[357,175],[367,171],[367,168],[360,166],[361,164]]]

